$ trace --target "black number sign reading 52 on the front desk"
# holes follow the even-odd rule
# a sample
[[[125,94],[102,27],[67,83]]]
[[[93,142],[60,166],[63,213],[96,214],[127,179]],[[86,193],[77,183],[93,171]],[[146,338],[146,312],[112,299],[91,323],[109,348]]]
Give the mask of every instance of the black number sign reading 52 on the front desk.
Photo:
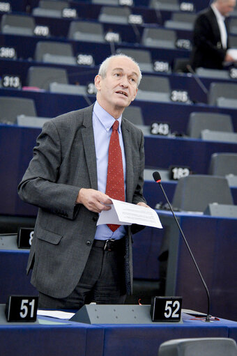
[[[182,297],[153,297],[151,318],[153,321],[180,321]]]

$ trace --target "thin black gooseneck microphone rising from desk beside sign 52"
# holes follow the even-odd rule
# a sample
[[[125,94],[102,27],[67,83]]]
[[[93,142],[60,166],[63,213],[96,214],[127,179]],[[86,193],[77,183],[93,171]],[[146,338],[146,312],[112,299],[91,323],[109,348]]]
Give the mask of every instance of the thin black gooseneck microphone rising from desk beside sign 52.
[[[184,240],[184,242],[185,242],[185,245],[188,247],[188,251],[189,251],[189,253],[190,253],[190,256],[192,257],[192,261],[193,261],[195,267],[197,268],[197,272],[199,273],[199,277],[201,278],[202,284],[204,285],[204,288],[205,288],[205,290],[206,290],[206,294],[207,294],[207,297],[208,297],[208,312],[207,312],[207,314],[206,314],[206,320],[205,320],[205,321],[210,321],[210,294],[209,294],[208,288],[207,288],[207,286],[206,286],[206,282],[204,281],[204,277],[202,277],[202,275],[201,275],[201,271],[199,270],[199,267],[198,267],[198,265],[197,265],[197,262],[195,261],[195,258],[194,258],[193,254],[192,254],[192,251],[191,251],[191,249],[190,249],[190,247],[189,247],[189,245],[188,245],[188,241],[186,240],[185,235],[184,235],[184,233],[183,233],[183,231],[182,231],[182,229],[181,229],[181,226],[180,226],[180,224],[178,223],[178,220],[176,219],[176,216],[174,215],[174,210],[172,209],[171,204],[169,203],[169,199],[167,198],[167,195],[165,194],[165,190],[164,190],[164,188],[162,187],[162,184],[160,183],[160,182],[161,182],[160,173],[157,172],[157,171],[153,172],[153,178],[154,178],[154,180],[155,180],[156,183],[159,183],[159,184],[160,184],[160,188],[162,189],[162,192],[163,192],[163,194],[165,195],[165,199],[167,200],[167,203],[168,203],[168,205],[169,205],[169,209],[171,210],[171,212],[172,212],[172,214],[173,214],[173,217],[174,217],[174,219],[175,219],[175,221],[176,221],[176,224],[178,225],[178,229],[179,229],[179,231],[181,232],[181,235],[183,236],[183,240]]]

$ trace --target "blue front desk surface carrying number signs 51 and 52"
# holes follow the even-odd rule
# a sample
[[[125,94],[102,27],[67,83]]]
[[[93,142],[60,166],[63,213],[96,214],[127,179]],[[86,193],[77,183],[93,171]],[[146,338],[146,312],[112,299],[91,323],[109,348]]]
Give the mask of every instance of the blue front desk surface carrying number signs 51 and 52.
[[[184,337],[232,337],[237,323],[217,320],[183,324],[88,325],[38,317],[36,325],[1,325],[1,355],[157,356],[160,344]]]

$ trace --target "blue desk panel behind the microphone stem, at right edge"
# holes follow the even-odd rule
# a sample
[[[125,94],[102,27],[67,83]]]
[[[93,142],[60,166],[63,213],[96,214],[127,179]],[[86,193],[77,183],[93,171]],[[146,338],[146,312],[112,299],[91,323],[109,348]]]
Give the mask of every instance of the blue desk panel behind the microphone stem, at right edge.
[[[171,212],[160,211],[159,214],[167,226],[171,220],[174,222]],[[222,318],[237,320],[237,270],[234,268],[236,265],[237,219],[184,212],[176,215],[209,288],[211,314],[219,314]],[[174,227],[174,231],[176,233],[169,236],[170,257],[173,258],[174,264],[168,264],[167,270],[167,279],[171,275],[174,277],[171,291],[174,292],[174,295],[185,297],[186,302],[183,307],[206,310],[207,297],[204,286],[201,284],[201,279],[177,226]],[[175,245],[176,247],[174,247]]]

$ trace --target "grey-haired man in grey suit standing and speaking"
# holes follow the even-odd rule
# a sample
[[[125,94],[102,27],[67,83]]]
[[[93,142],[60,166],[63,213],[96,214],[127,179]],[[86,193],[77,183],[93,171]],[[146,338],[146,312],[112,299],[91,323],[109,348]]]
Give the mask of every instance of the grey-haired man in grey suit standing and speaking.
[[[122,117],[142,78],[130,57],[111,56],[95,77],[95,105],[43,126],[20,197],[38,206],[27,273],[40,308],[79,309],[85,303],[122,304],[132,293],[132,233],[144,226],[96,226],[112,203],[105,194],[109,139],[119,122],[125,201],[146,206],[144,137]],[[111,196],[113,197],[113,196]]]

